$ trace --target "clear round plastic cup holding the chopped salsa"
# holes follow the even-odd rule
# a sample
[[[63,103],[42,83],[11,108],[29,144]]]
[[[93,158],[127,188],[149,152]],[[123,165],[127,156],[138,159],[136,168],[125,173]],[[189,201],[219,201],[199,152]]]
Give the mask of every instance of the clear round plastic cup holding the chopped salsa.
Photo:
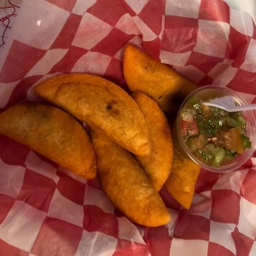
[[[191,96],[196,96],[201,101],[207,101],[216,97],[221,96],[232,96],[234,99],[234,102],[236,102],[237,105],[246,105],[247,102],[239,95],[238,92],[235,90],[230,90],[227,87],[220,86],[220,85],[206,85],[202,86],[201,88],[194,90],[187,96],[184,100],[182,105],[179,108],[179,111],[177,113],[177,119],[176,124],[174,125],[174,143],[177,144],[177,146],[183,150],[185,154],[188,154],[189,157],[195,161],[198,165],[200,165],[202,168],[204,168],[207,171],[211,172],[231,172],[234,170],[237,170],[239,167],[241,167],[253,154],[255,140],[256,140],[256,122],[253,115],[252,110],[243,111],[243,115],[245,119],[247,120],[246,125],[246,136],[250,138],[252,142],[252,148],[247,148],[243,154],[237,154],[236,157],[227,163],[225,163],[223,166],[215,167],[215,166],[209,166],[207,163],[202,162],[201,160],[197,159],[195,157],[195,154],[193,154],[189,147],[186,145],[186,143],[183,141],[183,136],[181,134],[181,111],[191,98]]]

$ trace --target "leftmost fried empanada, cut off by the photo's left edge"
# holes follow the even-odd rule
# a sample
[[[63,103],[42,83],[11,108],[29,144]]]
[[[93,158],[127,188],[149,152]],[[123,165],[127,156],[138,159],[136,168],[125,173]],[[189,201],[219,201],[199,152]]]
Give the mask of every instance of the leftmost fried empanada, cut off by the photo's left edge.
[[[59,108],[33,102],[15,105],[0,113],[0,133],[81,177],[96,177],[96,157],[88,134]]]

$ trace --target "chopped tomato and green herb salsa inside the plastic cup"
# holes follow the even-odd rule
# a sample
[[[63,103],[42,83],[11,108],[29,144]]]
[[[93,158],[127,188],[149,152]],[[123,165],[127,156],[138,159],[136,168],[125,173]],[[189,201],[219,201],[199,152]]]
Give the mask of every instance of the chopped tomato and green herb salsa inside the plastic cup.
[[[180,125],[184,143],[208,166],[223,166],[252,147],[242,112],[209,107],[195,96],[182,109]]]

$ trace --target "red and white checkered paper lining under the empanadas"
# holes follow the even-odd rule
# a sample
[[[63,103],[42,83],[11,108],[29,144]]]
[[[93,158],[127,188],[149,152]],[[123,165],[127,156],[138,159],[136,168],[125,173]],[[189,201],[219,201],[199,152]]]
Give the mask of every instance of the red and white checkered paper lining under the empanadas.
[[[23,0],[0,51],[1,111],[38,100],[32,86],[58,73],[93,73],[127,89],[128,42],[197,84],[256,102],[256,26],[224,1]],[[189,211],[162,189],[172,221],[144,228],[113,207],[96,179],[0,136],[0,254],[256,255],[255,157],[236,172],[201,170]]]

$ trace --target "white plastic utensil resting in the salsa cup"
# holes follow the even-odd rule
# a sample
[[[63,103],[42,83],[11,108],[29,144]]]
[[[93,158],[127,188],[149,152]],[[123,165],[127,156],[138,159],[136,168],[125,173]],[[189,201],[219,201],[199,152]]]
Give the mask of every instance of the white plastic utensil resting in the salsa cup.
[[[256,109],[256,104],[236,105],[232,96],[223,96],[203,102],[204,105],[224,109],[228,112],[245,111]]]

